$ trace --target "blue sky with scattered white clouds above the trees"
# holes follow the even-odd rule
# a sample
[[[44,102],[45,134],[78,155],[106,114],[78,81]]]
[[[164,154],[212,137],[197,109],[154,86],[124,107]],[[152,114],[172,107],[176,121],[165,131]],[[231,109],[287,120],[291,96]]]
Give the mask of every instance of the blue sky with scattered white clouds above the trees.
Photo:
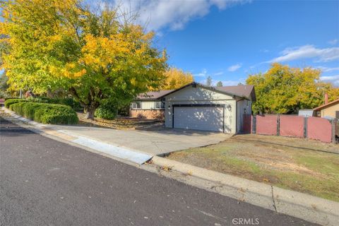
[[[339,86],[339,1],[126,1],[169,64],[237,85],[271,62],[323,70]]]

